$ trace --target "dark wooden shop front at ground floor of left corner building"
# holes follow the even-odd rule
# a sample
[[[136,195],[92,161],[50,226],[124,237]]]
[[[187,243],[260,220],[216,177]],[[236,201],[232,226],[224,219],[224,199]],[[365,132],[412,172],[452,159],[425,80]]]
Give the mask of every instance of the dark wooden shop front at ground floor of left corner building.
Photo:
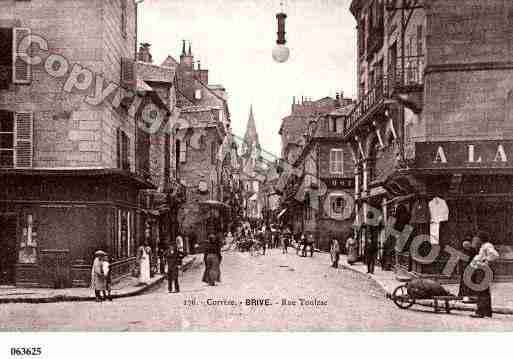
[[[131,273],[139,189],[117,170],[6,171],[0,179],[0,282],[88,286],[94,252],[109,253],[113,279]]]

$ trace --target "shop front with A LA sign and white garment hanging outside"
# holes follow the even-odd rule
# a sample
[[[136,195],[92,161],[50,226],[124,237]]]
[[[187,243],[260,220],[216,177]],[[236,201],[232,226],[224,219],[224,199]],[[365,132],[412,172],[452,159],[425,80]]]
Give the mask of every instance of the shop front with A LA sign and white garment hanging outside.
[[[410,238],[425,235],[430,243],[420,255],[435,250],[435,260],[412,256],[409,246],[397,264],[415,274],[455,280],[461,267],[444,273],[448,250],[486,231],[500,253],[493,263],[495,280],[513,279],[513,141],[427,142],[416,146],[415,168],[401,170],[389,181],[413,184],[415,191],[395,201],[401,221],[413,227]],[[411,243],[411,240],[410,240]],[[449,249],[450,248],[450,249]]]

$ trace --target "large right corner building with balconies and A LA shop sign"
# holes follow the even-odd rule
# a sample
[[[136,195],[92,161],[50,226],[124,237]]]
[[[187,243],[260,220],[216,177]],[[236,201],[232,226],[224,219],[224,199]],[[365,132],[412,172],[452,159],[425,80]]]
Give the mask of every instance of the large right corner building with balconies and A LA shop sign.
[[[363,239],[374,236],[385,267],[395,259],[440,276],[447,249],[485,230],[501,252],[496,278],[511,278],[513,67],[505,59],[512,55],[513,4],[354,0],[351,11],[359,101],[344,138],[355,158],[362,253]],[[436,208],[445,206],[448,215],[440,216]],[[420,256],[409,243],[394,255],[383,226],[392,217],[396,229],[413,227],[410,238],[430,238]],[[440,254],[422,260],[430,252]]]

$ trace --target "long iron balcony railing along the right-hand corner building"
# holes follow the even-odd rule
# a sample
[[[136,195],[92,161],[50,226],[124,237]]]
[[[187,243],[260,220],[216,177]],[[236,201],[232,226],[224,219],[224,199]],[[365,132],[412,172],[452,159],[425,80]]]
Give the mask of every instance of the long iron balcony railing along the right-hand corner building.
[[[386,99],[391,98],[394,92],[403,91],[411,87],[419,87],[424,83],[424,56],[409,56],[398,59],[395,71],[383,76],[361,98],[344,123],[344,136],[349,134],[360,121],[375,110]]]

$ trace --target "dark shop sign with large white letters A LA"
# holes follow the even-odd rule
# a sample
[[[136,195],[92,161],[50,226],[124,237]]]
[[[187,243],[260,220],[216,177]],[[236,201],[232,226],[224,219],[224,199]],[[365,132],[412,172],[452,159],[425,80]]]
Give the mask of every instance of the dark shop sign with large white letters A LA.
[[[513,141],[420,142],[417,168],[512,168]]]

